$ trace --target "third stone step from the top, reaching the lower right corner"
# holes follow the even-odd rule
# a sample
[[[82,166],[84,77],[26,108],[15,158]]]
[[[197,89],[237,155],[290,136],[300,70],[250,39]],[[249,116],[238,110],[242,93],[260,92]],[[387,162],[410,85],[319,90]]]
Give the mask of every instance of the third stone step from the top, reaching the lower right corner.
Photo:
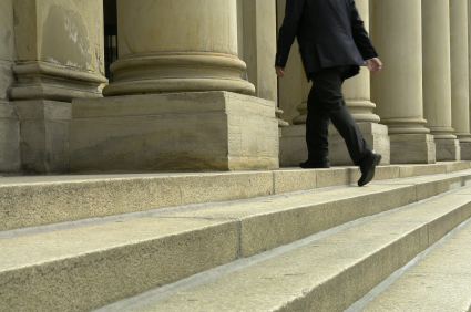
[[[104,311],[344,311],[364,297],[392,272],[408,263],[417,254],[436,243],[460,223],[471,222],[471,188],[447,194],[405,209],[396,209],[364,222],[352,225],[326,237],[307,239],[303,246],[265,258],[254,257],[238,268],[221,270],[202,277],[202,282],[187,285],[181,281],[171,287],[155,289],[141,298],[132,298],[96,310]],[[434,263],[446,263],[451,272],[469,264],[470,232],[458,237],[459,245],[446,249]],[[460,250],[465,250],[459,252]],[[454,260],[449,260],[453,253]],[[441,262],[440,262],[441,261]],[[444,261],[444,262],[443,262]],[[454,270],[452,263],[457,263]],[[423,272],[432,269],[424,266]],[[440,272],[440,271],[439,271]],[[438,280],[447,279],[437,272]],[[450,278],[450,277],[448,277]],[[455,282],[468,279],[460,287],[460,295],[470,297],[469,275],[460,275],[443,288],[452,297]],[[420,283],[416,283],[416,287]],[[401,293],[407,290],[398,288]],[[409,289],[412,291],[413,287]],[[412,291],[413,292],[413,291]],[[441,294],[441,297],[447,295]],[[393,293],[395,294],[395,293]],[[141,300],[140,300],[141,299]],[[396,298],[397,300],[405,297]],[[452,299],[451,299],[452,300]],[[446,304],[450,301],[440,303]],[[367,311],[416,311],[389,309],[398,306],[375,305]],[[467,302],[469,303],[469,302]],[[396,305],[396,306],[395,306]],[[437,309],[418,311],[469,311]],[[461,305],[465,306],[465,304]]]

